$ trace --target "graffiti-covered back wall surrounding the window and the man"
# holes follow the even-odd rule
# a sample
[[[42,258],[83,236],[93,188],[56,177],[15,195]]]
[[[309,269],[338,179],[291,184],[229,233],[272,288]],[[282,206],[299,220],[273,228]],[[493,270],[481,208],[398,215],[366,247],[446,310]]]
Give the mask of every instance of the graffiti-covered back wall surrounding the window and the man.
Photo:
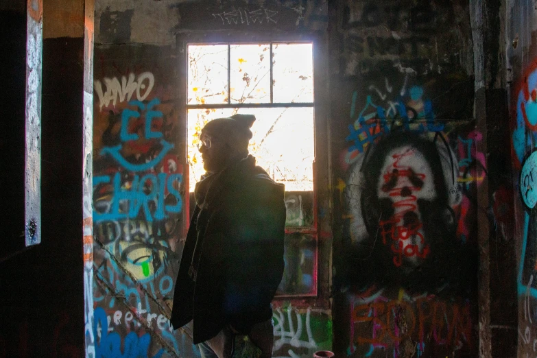
[[[197,354],[187,333],[167,329],[187,211],[176,136],[184,118],[174,106],[183,70],[170,44],[189,32],[208,41],[313,34],[316,48],[327,46],[329,60],[316,69],[329,81],[315,89],[316,101],[330,99],[315,104],[328,122],[315,119],[324,123],[315,128],[316,155],[331,155],[330,180],[316,187],[331,193],[318,203],[319,295],[274,300],[274,355],[477,355],[478,216],[509,220],[501,206],[478,202],[489,176],[487,133],[475,121],[466,1],[135,8],[102,0],[96,27],[94,326],[96,335],[106,326],[102,342],[110,342],[97,347],[102,356],[131,346],[148,357]]]

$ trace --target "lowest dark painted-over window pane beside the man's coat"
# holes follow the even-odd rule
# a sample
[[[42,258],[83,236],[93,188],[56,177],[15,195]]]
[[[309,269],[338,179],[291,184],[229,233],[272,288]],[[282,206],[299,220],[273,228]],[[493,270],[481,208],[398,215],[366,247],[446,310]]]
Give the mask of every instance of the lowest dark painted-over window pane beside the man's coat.
[[[315,235],[286,234],[283,259],[285,269],[276,296],[316,294],[317,240]]]

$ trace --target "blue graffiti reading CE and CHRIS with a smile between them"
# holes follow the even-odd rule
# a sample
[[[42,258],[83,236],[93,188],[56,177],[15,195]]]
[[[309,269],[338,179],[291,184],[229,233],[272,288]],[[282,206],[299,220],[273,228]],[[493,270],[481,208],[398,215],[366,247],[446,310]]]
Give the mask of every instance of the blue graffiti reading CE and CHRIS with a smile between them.
[[[96,198],[99,195],[99,185],[112,185],[111,200],[108,200],[104,207],[96,208],[93,213],[95,222],[136,217],[141,210],[148,222],[165,219],[167,213],[180,213],[182,200],[179,188],[182,183],[182,168],[175,163],[174,158],[167,156],[174,145],[162,138],[162,132],[152,130],[156,127],[154,121],[163,117],[162,112],[153,109],[158,104],[158,98],[153,99],[147,106],[139,101],[129,102],[136,110],[126,108],[121,113],[121,144],[104,147],[101,154],[110,155],[121,168],[134,173],[150,170],[163,160],[164,165],[172,170],[163,168],[163,172],[149,172],[143,176],[119,171],[113,176],[95,176],[93,187]],[[140,119],[143,119],[142,126]],[[137,131],[132,132],[132,128]],[[135,163],[123,156],[124,149],[132,146],[139,150],[145,148],[146,151],[157,147],[160,151],[145,156],[143,163]],[[170,160],[174,163],[168,163]]]

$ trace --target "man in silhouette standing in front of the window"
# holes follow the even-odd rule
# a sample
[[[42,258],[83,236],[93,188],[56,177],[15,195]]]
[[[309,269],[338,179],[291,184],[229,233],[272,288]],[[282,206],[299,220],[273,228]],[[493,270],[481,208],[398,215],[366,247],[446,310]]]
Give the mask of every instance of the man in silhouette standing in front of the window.
[[[235,335],[248,335],[272,356],[270,302],[283,275],[284,186],[248,155],[253,115],[204,126],[206,175],[195,186],[195,210],[184,244],[171,324],[193,320],[204,358],[231,357]]]

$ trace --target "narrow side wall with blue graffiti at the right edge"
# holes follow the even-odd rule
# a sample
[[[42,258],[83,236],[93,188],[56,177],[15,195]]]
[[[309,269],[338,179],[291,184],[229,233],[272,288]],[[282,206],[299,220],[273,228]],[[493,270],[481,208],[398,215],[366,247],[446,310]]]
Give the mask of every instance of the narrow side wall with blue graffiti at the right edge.
[[[508,2],[507,57],[510,86],[514,219],[518,243],[518,356],[537,353],[537,222],[534,194],[537,132],[537,10],[525,0]]]

